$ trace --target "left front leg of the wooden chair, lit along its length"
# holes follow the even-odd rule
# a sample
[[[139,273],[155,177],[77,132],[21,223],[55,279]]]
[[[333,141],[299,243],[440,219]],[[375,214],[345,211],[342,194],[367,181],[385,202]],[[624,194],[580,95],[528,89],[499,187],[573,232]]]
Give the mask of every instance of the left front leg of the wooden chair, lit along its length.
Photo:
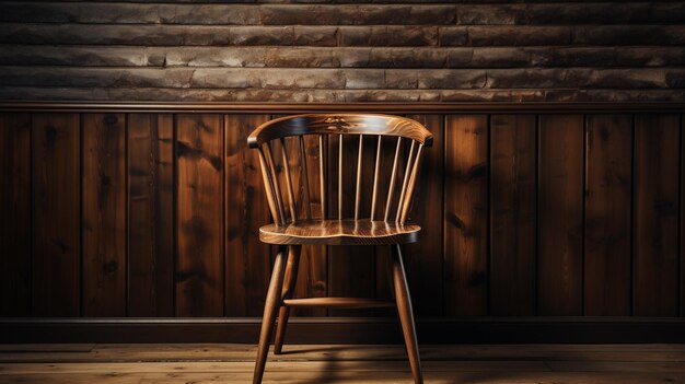
[[[274,271],[271,272],[271,281],[266,294],[266,303],[264,305],[264,317],[262,318],[262,331],[259,334],[259,347],[257,348],[257,360],[255,362],[255,375],[253,384],[262,383],[264,368],[266,365],[266,357],[269,352],[269,344],[271,341],[271,331],[276,322],[276,311],[281,302],[281,289],[283,284],[283,269],[286,267],[286,246],[281,246],[276,255]]]

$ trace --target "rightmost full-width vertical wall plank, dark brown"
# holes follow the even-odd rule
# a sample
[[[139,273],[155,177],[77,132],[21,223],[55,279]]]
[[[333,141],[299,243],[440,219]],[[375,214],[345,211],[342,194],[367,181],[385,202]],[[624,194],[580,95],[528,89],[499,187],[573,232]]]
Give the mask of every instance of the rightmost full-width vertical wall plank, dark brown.
[[[635,115],[634,314],[677,316],[680,116]]]

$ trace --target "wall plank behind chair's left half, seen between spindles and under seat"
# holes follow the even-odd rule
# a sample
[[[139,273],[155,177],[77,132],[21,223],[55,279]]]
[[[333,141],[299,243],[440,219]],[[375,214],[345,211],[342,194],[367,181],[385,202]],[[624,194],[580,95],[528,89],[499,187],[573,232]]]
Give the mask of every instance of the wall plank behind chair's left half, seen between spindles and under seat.
[[[304,153],[307,167],[309,181],[302,177],[302,167],[292,167],[292,176],[295,194],[299,197],[298,208],[300,214],[304,217],[304,198],[303,188],[305,182],[309,183],[310,201],[312,201],[312,216],[321,217],[321,184],[318,177],[318,138],[316,136],[307,136],[304,139]],[[299,144],[291,141],[289,155],[294,163],[301,162]],[[294,179],[298,179],[295,183]],[[326,296],[328,287],[326,246],[324,245],[305,245],[300,254],[300,271],[294,290],[294,298],[320,298]],[[294,307],[292,311],[294,316],[326,316],[325,307]]]

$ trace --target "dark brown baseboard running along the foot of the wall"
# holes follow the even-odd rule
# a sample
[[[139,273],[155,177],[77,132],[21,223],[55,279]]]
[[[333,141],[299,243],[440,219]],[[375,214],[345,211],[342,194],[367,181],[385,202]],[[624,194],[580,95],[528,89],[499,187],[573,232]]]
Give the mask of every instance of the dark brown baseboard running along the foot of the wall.
[[[259,318],[2,318],[0,342],[247,342]],[[422,344],[685,342],[685,318],[472,317],[417,322]],[[287,342],[398,344],[394,318],[292,318]]]

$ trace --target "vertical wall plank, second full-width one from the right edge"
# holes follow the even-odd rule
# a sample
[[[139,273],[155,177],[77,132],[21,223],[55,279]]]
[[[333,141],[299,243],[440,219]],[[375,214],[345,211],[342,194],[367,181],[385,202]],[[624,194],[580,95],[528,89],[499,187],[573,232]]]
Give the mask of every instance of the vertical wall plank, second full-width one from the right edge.
[[[630,314],[632,116],[589,115],[585,132],[584,314]]]

